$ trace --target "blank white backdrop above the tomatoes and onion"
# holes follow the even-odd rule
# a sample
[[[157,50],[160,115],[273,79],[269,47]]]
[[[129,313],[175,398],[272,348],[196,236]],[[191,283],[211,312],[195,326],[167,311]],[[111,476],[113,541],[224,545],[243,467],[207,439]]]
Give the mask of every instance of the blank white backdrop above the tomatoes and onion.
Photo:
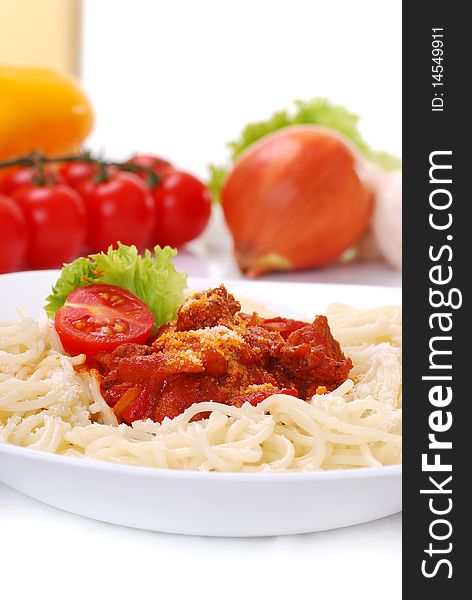
[[[204,176],[244,125],[324,96],[401,153],[400,0],[86,1],[91,146]]]

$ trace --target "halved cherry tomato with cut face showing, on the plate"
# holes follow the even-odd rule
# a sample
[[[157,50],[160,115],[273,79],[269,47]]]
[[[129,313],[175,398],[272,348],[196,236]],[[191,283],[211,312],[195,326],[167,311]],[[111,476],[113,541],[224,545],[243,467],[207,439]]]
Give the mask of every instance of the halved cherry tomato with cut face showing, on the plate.
[[[110,352],[117,346],[143,344],[154,316],[142,300],[115,285],[89,285],[74,290],[56,313],[54,324],[69,354]]]

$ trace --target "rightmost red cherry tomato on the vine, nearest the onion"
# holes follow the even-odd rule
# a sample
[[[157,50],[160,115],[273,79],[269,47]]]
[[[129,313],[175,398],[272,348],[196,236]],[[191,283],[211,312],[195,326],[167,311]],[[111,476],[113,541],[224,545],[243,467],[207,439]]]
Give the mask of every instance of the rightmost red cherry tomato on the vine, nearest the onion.
[[[152,242],[181,246],[200,235],[208,224],[211,198],[208,189],[193,175],[168,171],[152,189],[156,201],[156,224]]]

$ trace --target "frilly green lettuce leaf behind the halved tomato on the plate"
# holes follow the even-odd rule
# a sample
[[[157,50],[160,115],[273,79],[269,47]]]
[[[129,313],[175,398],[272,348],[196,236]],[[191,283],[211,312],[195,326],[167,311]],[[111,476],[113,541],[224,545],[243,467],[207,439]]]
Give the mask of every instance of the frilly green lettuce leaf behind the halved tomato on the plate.
[[[94,283],[117,285],[132,292],[153,313],[155,325],[163,325],[177,316],[184,297],[187,274],[175,270],[172,259],[177,250],[165,246],[154,248],[154,256],[146,250],[141,256],[136,246],[108,248],[107,253],[91,254],[65,264],[61,275],[46,298],[44,307],[53,318],[76,288]]]

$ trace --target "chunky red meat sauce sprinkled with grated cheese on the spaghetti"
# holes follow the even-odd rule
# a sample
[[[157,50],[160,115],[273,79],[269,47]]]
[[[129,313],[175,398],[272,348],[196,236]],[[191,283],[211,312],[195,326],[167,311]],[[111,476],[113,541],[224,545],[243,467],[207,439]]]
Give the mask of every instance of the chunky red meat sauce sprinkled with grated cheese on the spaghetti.
[[[319,386],[332,390],[347,379],[351,360],[326,317],[263,319],[240,308],[224,286],[195,294],[152,345],[125,344],[98,356],[115,414],[161,422],[198,402],[255,405],[281,391],[309,399]]]

